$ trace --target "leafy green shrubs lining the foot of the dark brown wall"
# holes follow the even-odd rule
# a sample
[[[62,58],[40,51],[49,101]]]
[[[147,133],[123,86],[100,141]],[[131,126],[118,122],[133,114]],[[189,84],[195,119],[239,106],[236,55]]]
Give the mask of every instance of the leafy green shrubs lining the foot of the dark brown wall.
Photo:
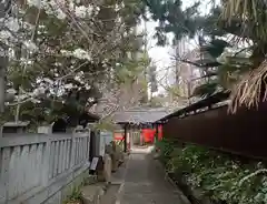
[[[267,203],[267,170],[263,163],[244,163],[228,154],[196,145],[177,147],[170,141],[159,141],[157,146],[168,173],[181,175],[188,185],[201,190],[212,201]]]

